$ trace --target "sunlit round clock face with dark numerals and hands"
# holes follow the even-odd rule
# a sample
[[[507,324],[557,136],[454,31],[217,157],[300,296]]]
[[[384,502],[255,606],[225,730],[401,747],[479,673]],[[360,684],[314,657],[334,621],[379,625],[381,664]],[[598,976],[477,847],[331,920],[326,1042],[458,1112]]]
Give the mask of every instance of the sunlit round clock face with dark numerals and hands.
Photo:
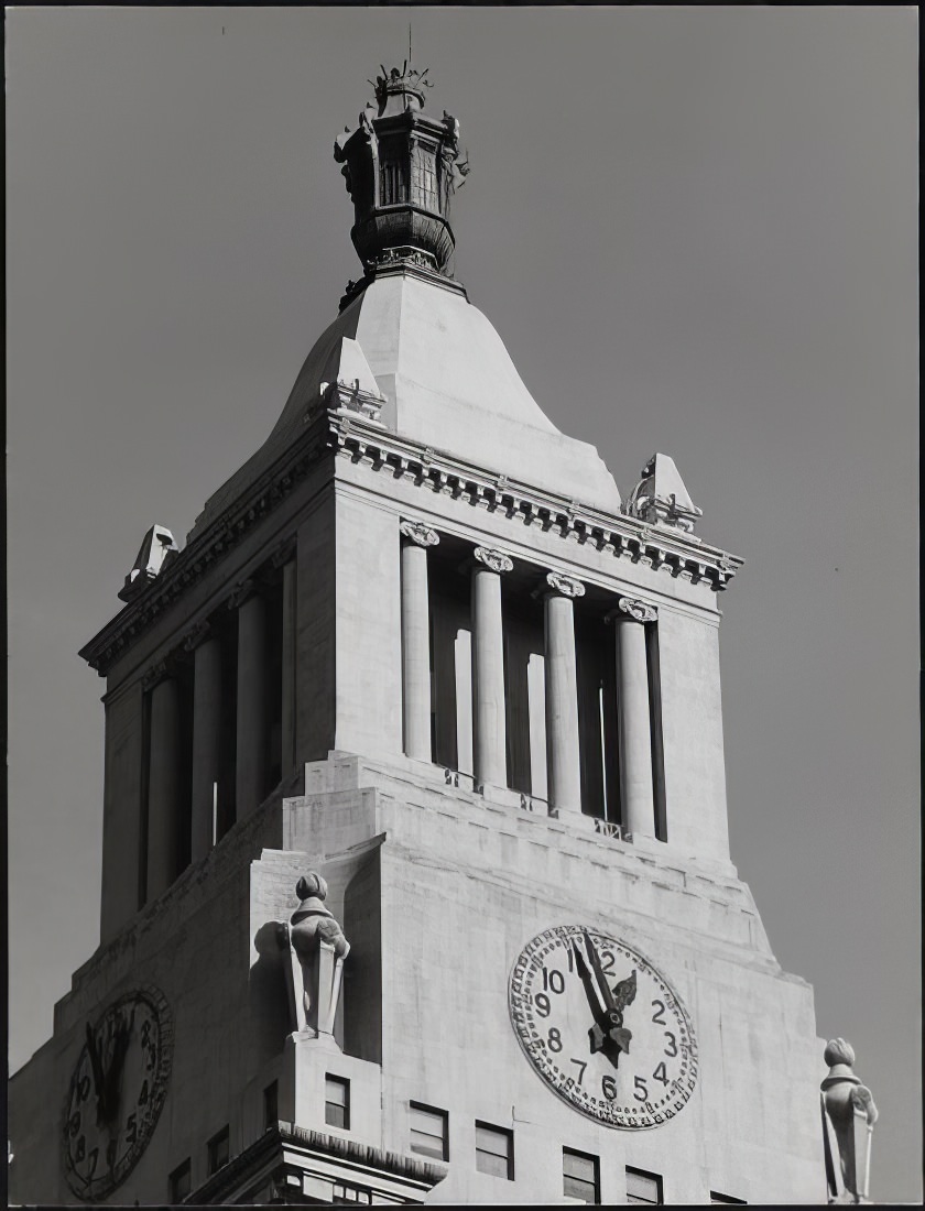
[[[697,1078],[690,1020],[667,980],[626,942],[557,925],[518,957],[510,985],[517,1039],[574,1109],[611,1127],[654,1127]]]

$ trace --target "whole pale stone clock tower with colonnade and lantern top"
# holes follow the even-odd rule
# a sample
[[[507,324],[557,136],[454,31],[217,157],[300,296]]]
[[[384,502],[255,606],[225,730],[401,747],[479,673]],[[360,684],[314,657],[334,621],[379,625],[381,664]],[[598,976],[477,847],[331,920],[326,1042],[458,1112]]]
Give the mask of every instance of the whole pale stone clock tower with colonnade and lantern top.
[[[823,1198],[810,987],[729,856],[718,595],[448,274],[459,127],[378,79],[363,276],[107,678],[100,945],[11,1083],[38,1203]]]

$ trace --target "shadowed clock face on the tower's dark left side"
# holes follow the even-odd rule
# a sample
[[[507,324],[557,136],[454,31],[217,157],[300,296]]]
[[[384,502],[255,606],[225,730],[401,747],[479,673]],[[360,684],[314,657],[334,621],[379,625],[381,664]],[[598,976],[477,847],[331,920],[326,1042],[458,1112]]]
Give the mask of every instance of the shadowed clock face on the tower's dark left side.
[[[63,1127],[64,1175],[79,1198],[105,1198],[137,1165],[163,1106],[172,1049],[156,988],[126,993],[87,1023]]]

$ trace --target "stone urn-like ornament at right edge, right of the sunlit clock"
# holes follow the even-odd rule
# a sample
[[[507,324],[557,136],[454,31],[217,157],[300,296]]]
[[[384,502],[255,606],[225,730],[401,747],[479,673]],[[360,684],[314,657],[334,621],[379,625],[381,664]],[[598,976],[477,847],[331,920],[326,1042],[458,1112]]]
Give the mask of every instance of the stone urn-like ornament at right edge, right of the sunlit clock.
[[[826,1045],[828,1077],[822,1081],[822,1143],[829,1203],[867,1203],[871,1140],[877,1107],[855,1075],[855,1052],[844,1039]]]

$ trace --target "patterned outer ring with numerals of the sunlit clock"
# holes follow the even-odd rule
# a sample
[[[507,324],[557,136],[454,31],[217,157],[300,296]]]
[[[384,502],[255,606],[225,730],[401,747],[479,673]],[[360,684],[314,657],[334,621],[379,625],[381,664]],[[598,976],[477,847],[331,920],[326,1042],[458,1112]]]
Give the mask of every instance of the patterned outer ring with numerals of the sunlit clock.
[[[634,972],[633,994],[636,972],[642,972],[654,983],[661,995],[651,1000],[651,1006],[645,1006],[647,1011],[656,1004],[662,1005],[662,1010],[656,1009],[656,1016],[653,1017],[653,1021],[659,1022],[660,1017],[665,1017],[662,1025],[672,1025],[671,1034],[676,1039],[673,1045],[679,1060],[677,1077],[670,1081],[660,1097],[638,1106],[624,1106],[622,1102],[628,1100],[626,1096],[620,1102],[616,1097],[608,1101],[603,1096],[592,1096],[581,1086],[580,1080],[576,1081],[574,1072],[569,1073],[559,1066],[550,1051],[548,1041],[545,1041],[542,1037],[542,1023],[550,1015],[539,1012],[534,1004],[538,995],[535,985],[540,982],[545,966],[542,960],[557,949],[568,952],[574,943],[581,943],[586,935],[590,936],[596,948],[621,955],[627,960],[625,965],[632,966]],[[579,980],[579,976],[575,975],[574,978]],[[546,998],[546,1003],[548,1001],[550,997]],[[697,1044],[684,1003],[650,959],[634,946],[605,934],[603,930],[574,924],[553,925],[530,939],[519,952],[511,970],[507,983],[507,1005],[517,1041],[534,1073],[571,1109],[604,1126],[620,1130],[647,1130],[661,1126],[684,1109],[694,1094],[697,1080]],[[588,1017],[590,1015],[591,1010],[588,1010]],[[667,1034],[668,1032],[662,1033]],[[574,1061],[569,1057],[563,1062],[573,1063]],[[626,1067],[625,1062],[625,1071]],[[579,1077],[582,1075],[584,1069],[579,1073]]]

